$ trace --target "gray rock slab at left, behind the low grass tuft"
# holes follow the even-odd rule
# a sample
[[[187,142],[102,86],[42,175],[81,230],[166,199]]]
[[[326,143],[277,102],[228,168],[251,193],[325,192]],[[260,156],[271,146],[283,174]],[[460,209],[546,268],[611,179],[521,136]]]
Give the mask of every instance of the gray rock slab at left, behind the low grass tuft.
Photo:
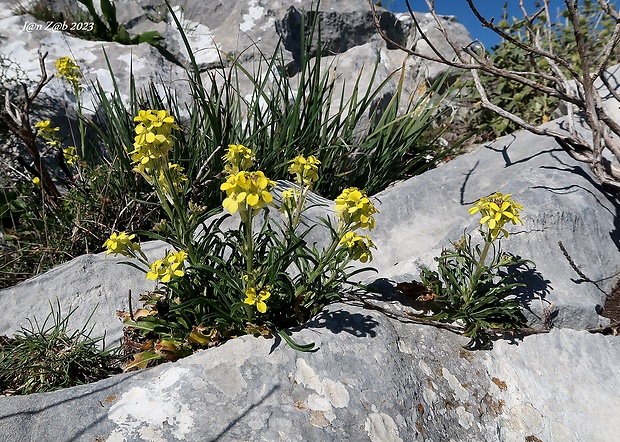
[[[165,256],[166,244],[149,242],[143,251],[151,262]],[[139,297],[155,289],[153,281],[147,281],[145,273],[121,264],[127,258],[105,256],[105,253],[88,254],[75,258],[54,269],[0,290],[0,336],[13,335],[22,327],[30,329],[28,320],[42,325],[51,309],[66,315],[76,309],[69,320],[69,329],[80,330],[89,316],[87,330],[92,337],[106,337],[106,345],[118,344],[123,337],[123,327],[116,310],[128,309],[131,290],[134,309],[140,306]],[[96,309],[96,310],[95,310]],[[53,320],[47,323],[53,324]]]

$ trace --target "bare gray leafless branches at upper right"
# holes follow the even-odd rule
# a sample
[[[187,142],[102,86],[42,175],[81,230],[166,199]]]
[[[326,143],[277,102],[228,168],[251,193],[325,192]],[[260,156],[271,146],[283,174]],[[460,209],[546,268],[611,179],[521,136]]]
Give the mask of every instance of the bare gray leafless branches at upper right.
[[[620,162],[620,142],[612,136],[613,133],[616,137],[620,138],[620,123],[616,122],[606,112],[602,105],[600,93],[594,84],[595,80],[600,77],[603,84],[610,91],[610,94],[620,101],[620,93],[617,93],[614,88],[611,87],[605,74],[605,70],[614,54],[614,50],[620,45],[620,13],[618,13],[608,1],[597,0],[597,4],[605,14],[614,18],[617,23],[603,50],[600,51],[599,54],[593,55],[588,54],[587,39],[584,32],[593,32],[594,29],[583,28],[578,2],[565,0],[569,22],[572,25],[579,57],[577,65],[573,65],[572,60],[569,60],[567,57],[561,57],[554,51],[554,24],[549,11],[549,0],[543,0],[541,7],[532,15],[528,14],[523,0],[520,1],[519,4],[525,19],[524,27],[527,33],[524,37],[515,37],[508,34],[498,25],[494,24],[493,19],[487,20],[483,17],[474,5],[473,0],[467,0],[470,9],[482,26],[499,35],[504,43],[512,44],[516,48],[524,51],[524,55],[531,61],[532,72],[519,72],[501,68],[493,63],[486,51],[484,54],[481,54],[479,51],[476,51],[471,44],[465,47],[459,47],[449,35],[441,17],[437,14],[434,0],[425,1],[429,8],[430,15],[436,22],[437,29],[454,51],[453,59],[447,59],[447,56],[441,54],[430,39],[424,35],[419,21],[411,9],[409,0],[406,0],[406,4],[414,26],[420,33],[421,40],[426,42],[433,55],[422,54],[420,51],[415,50],[415,48],[405,48],[390,40],[381,29],[374,4],[372,0],[369,0],[375,26],[381,37],[394,45],[394,47],[411,56],[470,71],[474,86],[480,95],[481,104],[484,108],[495,112],[534,134],[553,137],[572,158],[588,164],[592,172],[603,184],[620,190],[620,169],[616,163],[612,163],[603,155],[603,152],[607,149],[613,154],[616,161]],[[540,26],[536,22],[541,14],[545,14],[546,16],[546,19],[541,21],[543,26],[542,33]],[[602,17],[600,20],[602,20]],[[546,62],[550,71],[540,63],[541,59]],[[522,117],[493,104],[481,80],[481,72],[505,78],[523,86],[531,87],[540,93],[562,100],[566,104],[568,111],[568,130],[559,131],[553,129],[552,126],[532,124]],[[585,122],[592,132],[591,141],[586,141],[577,131],[577,125],[575,123],[577,112],[585,116]]]

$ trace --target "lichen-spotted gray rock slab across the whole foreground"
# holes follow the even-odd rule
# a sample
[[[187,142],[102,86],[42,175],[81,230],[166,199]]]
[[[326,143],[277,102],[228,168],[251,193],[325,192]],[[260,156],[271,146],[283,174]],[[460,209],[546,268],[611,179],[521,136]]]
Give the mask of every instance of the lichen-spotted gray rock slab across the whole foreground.
[[[0,398],[0,435],[504,442],[608,441],[620,430],[616,337],[554,330],[471,353],[449,332],[344,304],[293,337],[318,351],[246,336],[94,384]]]

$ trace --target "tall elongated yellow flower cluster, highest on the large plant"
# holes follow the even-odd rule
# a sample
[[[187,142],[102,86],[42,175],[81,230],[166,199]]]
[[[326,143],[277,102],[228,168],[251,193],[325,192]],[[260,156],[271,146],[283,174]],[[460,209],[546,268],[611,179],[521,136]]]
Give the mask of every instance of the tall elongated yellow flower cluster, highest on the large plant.
[[[172,130],[178,126],[166,110],[141,110],[134,121],[138,123],[134,150],[129,152],[136,163],[133,170],[150,181],[162,169],[173,146]]]

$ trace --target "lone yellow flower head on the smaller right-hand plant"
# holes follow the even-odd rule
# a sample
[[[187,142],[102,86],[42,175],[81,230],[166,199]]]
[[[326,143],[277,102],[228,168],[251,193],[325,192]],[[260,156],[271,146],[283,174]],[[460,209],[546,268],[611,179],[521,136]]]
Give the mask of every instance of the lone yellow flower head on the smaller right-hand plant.
[[[501,192],[495,192],[493,195],[485,198],[480,198],[471,209],[470,214],[480,212],[482,218],[480,224],[487,224],[491,237],[493,239],[502,233],[508,238],[508,232],[504,229],[504,225],[510,221],[513,224],[517,222],[523,225],[523,221],[519,217],[519,212],[523,210],[521,204],[515,203],[510,197],[512,195],[507,193],[503,195]]]

